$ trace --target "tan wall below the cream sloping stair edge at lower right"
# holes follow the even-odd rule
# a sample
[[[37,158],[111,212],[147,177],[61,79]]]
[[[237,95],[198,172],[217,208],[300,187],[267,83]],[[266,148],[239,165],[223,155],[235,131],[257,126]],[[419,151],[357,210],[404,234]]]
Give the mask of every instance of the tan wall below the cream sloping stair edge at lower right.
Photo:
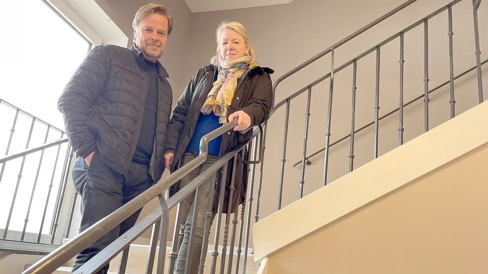
[[[268,273],[485,273],[487,156],[485,145],[271,254]]]

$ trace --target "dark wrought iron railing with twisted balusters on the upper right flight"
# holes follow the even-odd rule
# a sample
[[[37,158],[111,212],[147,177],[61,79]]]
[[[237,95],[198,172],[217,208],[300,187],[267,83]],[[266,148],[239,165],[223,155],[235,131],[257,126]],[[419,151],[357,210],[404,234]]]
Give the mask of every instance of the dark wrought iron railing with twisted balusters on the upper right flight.
[[[398,143],[399,145],[402,145],[404,143],[404,107],[416,102],[417,100],[423,98],[424,99],[424,132],[428,131],[429,129],[429,94],[433,91],[436,91],[440,89],[441,87],[450,84],[450,117],[453,118],[455,116],[455,103],[456,101],[454,100],[454,80],[458,79],[459,77],[462,77],[466,75],[467,73],[473,71],[474,69],[477,70],[477,81],[478,81],[478,103],[483,102],[483,87],[482,87],[482,70],[481,66],[485,64],[487,61],[481,62],[480,55],[480,39],[479,39],[479,30],[478,30],[478,15],[477,15],[477,9],[480,5],[480,0],[473,0],[473,18],[474,18],[474,34],[475,34],[475,47],[476,47],[476,66],[473,68],[461,73],[460,75],[454,77],[453,73],[453,42],[452,42],[452,6],[455,4],[461,2],[462,0],[454,0],[447,5],[437,9],[436,11],[432,12],[431,14],[425,16],[424,18],[418,20],[417,22],[411,24],[410,26],[402,29],[398,33],[390,36],[389,38],[385,39],[384,41],[378,43],[377,45],[371,47],[369,50],[363,52],[360,55],[357,55],[350,59],[348,62],[342,64],[341,66],[335,68],[334,66],[334,51],[341,45],[343,45],[345,42],[349,41],[351,38],[356,37],[360,33],[364,32],[365,30],[369,29],[371,26],[374,26],[375,24],[381,22],[382,20],[386,19],[389,15],[392,14],[392,12],[396,12],[400,10],[400,7],[405,7],[408,4],[413,3],[414,1],[408,1],[404,3],[402,6],[399,8],[396,8],[392,10],[391,12],[387,13],[386,15],[382,16],[378,20],[373,21],[366,27],[362,28],[361,30],[355,32],[354,34],[350,35],[350,39],[342,40],[341,42],[335,44],[334,46],[330,47],[329,49],[323,51],[319,55],[314,56],[313,58],[309,59],[308,61],[304,62],[300,66],[296,67],[295,69],[291,70],[290,72],[284,74],[282,77],[280,77],[274,85],[274,90],[277,89],[278,84],[284,80],[285,78],[293,75],[300,69],[308,66],[309,64],[315,62],[319,58],[331,54],[331,72],[325,74],[324,76],[320,77],[319,79],[309,83],[308,85],[304,86],[297,92],[293,93],[292,95],[288,96],[287,98],[283,99],[281,102],[279,102],[275,109],[272,111],[274,113],[277,109],[279,109],[281,106],[286,105],[286,110],[285,110],[285,117],[284,117],[284,133],[283,133],[283,147],[282,147],[282,153],[281,153],[281,159],[280,159],[280,175],[279,175],[279,195],[278,195],[278,210],[281,208],[281,200],[282,200],[282,189],[283,189],[283,179],[284,179],[284,171],[285,171],[285,162],[286,162],[286,150],[287,150],[287,135],[288,135],[288,123],[289,123],[289,105],[291,100],[296,98],[298,95],[308,92],[308,97],[307,97],[307,105],[306,105],[306,110],[305,110],[305,133],[303,137],[303,152],[302,152],[302,157],[301,161],[298,161],[293,165],[296,166],[297,164],[301,164],[301,170],[300,170],[300,178],[298,179],[298,185],[299,185],[299,191],[298,191],[298,197],[302,198],[303,197],[303,185],[305,183],[305,170],[306,166],[310,165],[310,158],[313,156],[316,156],[319,153],[324,152],[324,171],[323,171],[323,176],[322,176],[322,185],[325,186],[329,181],[328,181],[328,173],[329,173],[329,157],[330,157],[330,148],[347,138],[350,139],[350,147],[349,147],[349,172],[353,170],[353,160],[354,160],[354,134],[357,132],[373,125],[373,159],[378,157],[378,130],[379,130],[379,121],[385,117],[390,116],[391,114],[395,113],[396,111],[399,112],[399,126],[398,126],[398,136],[399,140]],[[447,10],[447,17],[448,17],[448,38],[449,38],[449,64],[450,64],[450,73],[449,73],[449,78],[450,80],[448,82],[445,82],[436,88],[429,90],[429,66],[428,66],[428,21],[433,18],[434,16],[444,12]],[[423,29],[424,29],[424,64],[423,64],[423,70],[424,70],[424,94],[422,96],[417,97],[416,99],[410,101],[407,104],[404,104],[404,35],[408,31],[414,29],[417,26],[420,26],[423,24]],[[399,108],[396,110],[393,110],[389,112],[386,115],[383,115],[380,117],[379,115],[379,75],[380,75],[380,50],[383,46],[387,45],[388,43],[394,41],[395,39],[399,39]],[[362,59],[363,57],[375,53],[376,55],[376,61],[375,61],[375,93],[374,93],[374,120],[373,122],[361,127],[360,129],[356,130],[355,129],[355,97],[356,97],[356,65],[357,61]],[[345,137],[335,141],[334,143],[331,143],[331,117],[332,117],[332,102],[333,102],[333,91],[334,91],[334,75],[343,69],[349,67],[352,65],[352,93],[351,93],[351,120],[350,120],[350,134],[346,135]],[[320,149],[319,151],[308,155],[307,156],[307,142],[309,141],[308,138],[308,130],[309,130],[309,116],[310,116],[310,97],[311,97],[311,92],[312,92],[312,87],[318,85],[319,83],[323,82],[326,79],[330,79],[330,84],[329,84],[329,100],[328,100],[328,106],[327,106],[327,120],[326,120],[326,132],[325,132],[325,147],[323,149]],[[346,122],[346,121],[345,121]],[[265,132],[266,135],[266,132]]]

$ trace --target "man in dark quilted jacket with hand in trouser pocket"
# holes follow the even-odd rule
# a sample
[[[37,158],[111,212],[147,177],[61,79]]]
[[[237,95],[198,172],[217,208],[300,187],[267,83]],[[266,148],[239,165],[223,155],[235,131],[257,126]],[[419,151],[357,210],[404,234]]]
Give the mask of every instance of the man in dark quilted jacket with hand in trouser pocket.
[[[81,195],[81,231],[157,182],[172,92],[158,61],[173,19],[165,6],[139,8],[134,45],[99,46],[85,58],[59,99],[78,159],[72,176]],[[76,257],[73,272],[131,228],[140,209]],[[98,273],[105,274],[108,265]]]

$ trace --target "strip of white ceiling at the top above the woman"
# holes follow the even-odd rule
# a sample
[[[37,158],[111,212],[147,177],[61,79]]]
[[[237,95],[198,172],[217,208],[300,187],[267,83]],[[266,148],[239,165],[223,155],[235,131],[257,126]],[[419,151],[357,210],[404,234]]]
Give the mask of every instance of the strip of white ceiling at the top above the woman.
[[[192,12],[288,4],[293,0],[185,0]]]

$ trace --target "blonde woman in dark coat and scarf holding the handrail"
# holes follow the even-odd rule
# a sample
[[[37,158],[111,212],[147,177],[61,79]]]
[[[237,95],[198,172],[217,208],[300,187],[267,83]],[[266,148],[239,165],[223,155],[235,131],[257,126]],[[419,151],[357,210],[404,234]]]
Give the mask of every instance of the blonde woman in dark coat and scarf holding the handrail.
[[[222,22],[218,26],[215,36],[217,49],[216,55],[210,60],[211,64],[202,67],[193,76],[173,110],[166,135],[166,167],[174,171],[178,166],[195,159],[199,154],[199,143],[203,135],[234,119],[237,119],[237,125],[233,130],[209,143],[207,161],[182,178],[179,183],[173,185],[170,195],[187,185],[219,157],[249,139],[252,134],[251,130],[245,133],[239,131],[264,122],[273,106],[270,74],[274,71],[259,66],[254,60],[256,55],[249,44],[244,26],[238,22]],[[228,164],[227,174],[229,176],[225,182],[226,186],[229,186],[231,178],[235,178],[231,213],[245,199],[248,175],[247,168],[243,164],[242,153],[239,153],[235,159],[237,161],[236,170],[232,174],[232,163]],[[217,172],[213,216],[221,179],[221,172]],[[211,183],[209,179],[201,187],[209,189]],[[224,201],[228,201],[228,193],[226,188]],[[206,195],[207,197],[205,197]],[[188,273],[198,272],[208,195],[209,193],[203,193],[196,201],[195,208],[199,214],[195,222],[192,220],[194,194],[189,195],[180,203],[180,212],[182,212],[180,235],[183,231],[184,236],[183,239],[180,236],[181,246],[175,266],[177,274],[184,273],[192,223],[196,228],[196,237],[192,238],[189,253],[192,262],[189,265],[191,269],[188,270]],[[227,205],[224,205],[223,208],[223,212],[227,213]]]

